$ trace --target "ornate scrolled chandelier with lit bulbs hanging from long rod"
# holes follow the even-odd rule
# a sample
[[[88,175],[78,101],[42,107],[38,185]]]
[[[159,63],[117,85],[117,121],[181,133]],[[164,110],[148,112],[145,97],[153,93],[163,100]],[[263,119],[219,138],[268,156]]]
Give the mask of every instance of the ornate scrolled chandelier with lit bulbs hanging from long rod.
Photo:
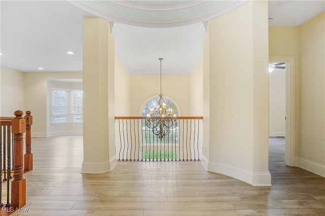
[[[148,118],[146,119],[146,127],[152,131],[158,138],[165,138],[172,129],[176,128],[177,121],[173,119],[173,109],[166,108],[166,102],[164,100],[164,95],[161,93],[161,60],[163,58],[159,58],[160,60],[160,94],[157,105],[153,105],[153,107],[149,110],[148,117],[156,118]]]

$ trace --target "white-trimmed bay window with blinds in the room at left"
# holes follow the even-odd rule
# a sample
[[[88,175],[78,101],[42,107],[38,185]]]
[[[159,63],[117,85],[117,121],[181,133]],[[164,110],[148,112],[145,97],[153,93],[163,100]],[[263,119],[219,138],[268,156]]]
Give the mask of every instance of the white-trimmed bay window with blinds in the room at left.
[[[83,121],[83,90],[52,88],[51,122]]]

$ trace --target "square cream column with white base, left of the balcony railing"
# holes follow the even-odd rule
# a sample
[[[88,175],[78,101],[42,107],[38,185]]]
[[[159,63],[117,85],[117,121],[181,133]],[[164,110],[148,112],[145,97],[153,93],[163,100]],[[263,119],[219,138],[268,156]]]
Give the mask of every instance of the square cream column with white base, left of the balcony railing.
[[[107,172],[116,164],[114,58],[110,23],[84,18],[82,173]]]

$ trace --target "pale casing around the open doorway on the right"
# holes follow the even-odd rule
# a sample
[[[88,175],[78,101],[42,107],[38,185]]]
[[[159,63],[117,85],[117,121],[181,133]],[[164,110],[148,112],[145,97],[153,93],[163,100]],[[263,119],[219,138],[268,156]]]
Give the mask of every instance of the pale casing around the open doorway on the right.
[[[269,56],[269,62],[285,63],[285,165],[296,166],[295,56]]]

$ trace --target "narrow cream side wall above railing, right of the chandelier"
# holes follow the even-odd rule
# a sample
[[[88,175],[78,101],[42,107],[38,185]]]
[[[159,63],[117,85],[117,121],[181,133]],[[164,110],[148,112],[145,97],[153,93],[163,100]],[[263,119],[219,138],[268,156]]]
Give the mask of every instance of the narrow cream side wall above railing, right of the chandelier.
[[[203,116],[203,60],[189,75],[190,115]]]

